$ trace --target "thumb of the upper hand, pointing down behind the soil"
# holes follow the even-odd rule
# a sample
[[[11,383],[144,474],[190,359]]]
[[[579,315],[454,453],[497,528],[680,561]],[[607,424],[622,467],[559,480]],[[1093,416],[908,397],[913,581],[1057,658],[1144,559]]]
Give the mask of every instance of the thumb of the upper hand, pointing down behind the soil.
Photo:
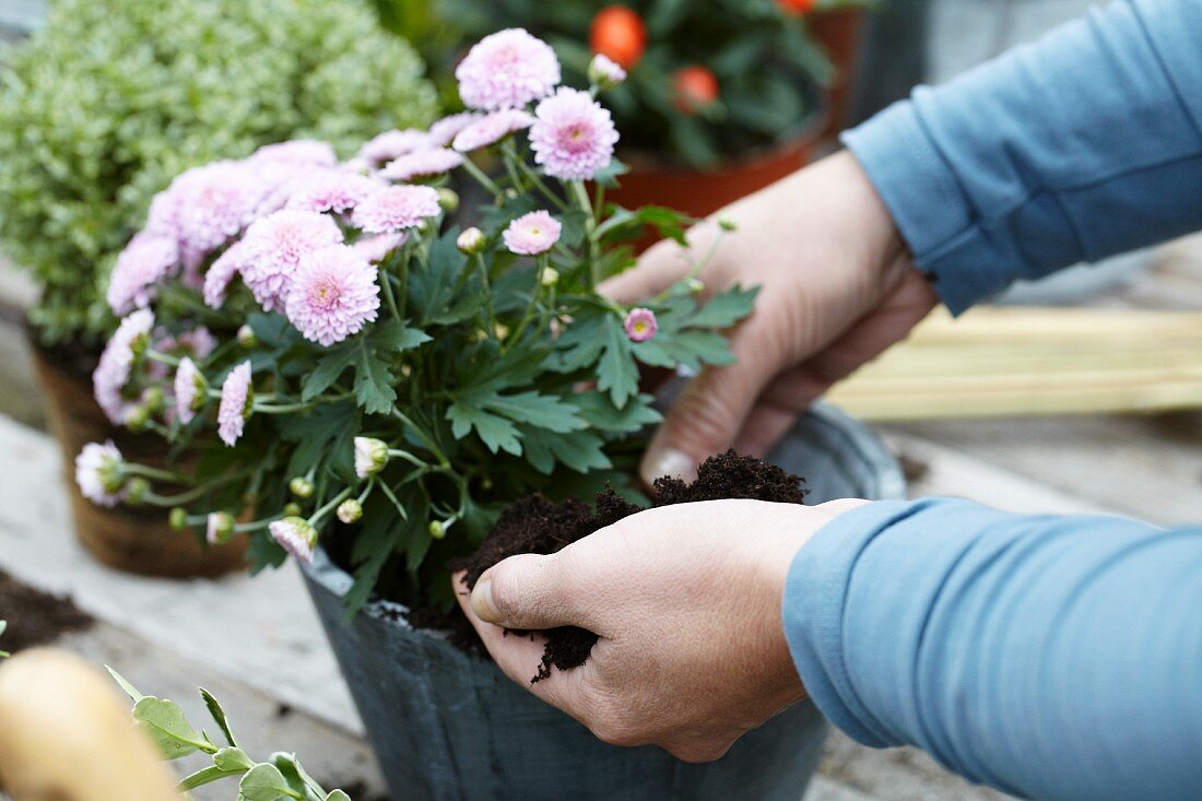
[[[650,486],[660,476],[691,481],[702,461],[731,447],[768,385],[774,366],[736,334],[736,363],[706,367],[672,404],[643,456],[639,475]]]

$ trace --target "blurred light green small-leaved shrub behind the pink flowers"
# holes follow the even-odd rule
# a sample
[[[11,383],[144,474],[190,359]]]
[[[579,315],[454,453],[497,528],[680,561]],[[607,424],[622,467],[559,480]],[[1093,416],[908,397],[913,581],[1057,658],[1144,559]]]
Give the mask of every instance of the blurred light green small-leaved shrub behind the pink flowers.
[[[47,343],[102,338],[113,259],[183,170],[294,137],[343,155],[435,95],[359,0],[59,0],[0,67],[0,242]]]

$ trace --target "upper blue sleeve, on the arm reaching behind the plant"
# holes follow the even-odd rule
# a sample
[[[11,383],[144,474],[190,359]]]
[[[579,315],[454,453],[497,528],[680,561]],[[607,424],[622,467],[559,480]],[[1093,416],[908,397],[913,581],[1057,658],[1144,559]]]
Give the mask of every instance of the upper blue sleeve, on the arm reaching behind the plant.
[[[1202,227],[1202,2],[1119,0],[844,135],[953,313]]]

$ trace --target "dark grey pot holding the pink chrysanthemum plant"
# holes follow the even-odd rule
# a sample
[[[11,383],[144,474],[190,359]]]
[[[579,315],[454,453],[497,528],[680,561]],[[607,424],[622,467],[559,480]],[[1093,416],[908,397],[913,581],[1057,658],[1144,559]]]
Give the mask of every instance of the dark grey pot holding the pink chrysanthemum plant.
[[[804,475],[810,500],[898,498],[897,462],[863,425],[819,407],[772,461]],[[403,622],[374,601],[346,619],[351,577],[319,552],[307,583],[395,801],[797,801],[826,724],[798,704],[720,760],[682,763],[655,747],[608,746],[484,659]]]

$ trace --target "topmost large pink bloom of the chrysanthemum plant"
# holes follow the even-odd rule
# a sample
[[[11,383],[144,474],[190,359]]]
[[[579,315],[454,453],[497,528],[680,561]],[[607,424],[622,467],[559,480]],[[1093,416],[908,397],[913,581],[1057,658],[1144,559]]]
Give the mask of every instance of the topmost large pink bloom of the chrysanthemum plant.
[[[541,38],[507,28],[480,40],[456,67],[468,108],[518,108],[546,97],[559,83],[559,59]]]

